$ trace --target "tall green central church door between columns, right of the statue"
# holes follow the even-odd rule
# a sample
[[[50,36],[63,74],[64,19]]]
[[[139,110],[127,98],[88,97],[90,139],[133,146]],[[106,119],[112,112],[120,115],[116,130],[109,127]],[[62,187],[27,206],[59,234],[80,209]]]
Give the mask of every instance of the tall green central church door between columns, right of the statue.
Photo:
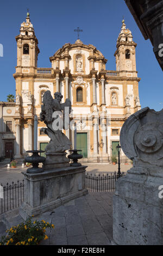
[[[77,149],[82,150],[79,154],[87,158],[87,133],[77,133]]]

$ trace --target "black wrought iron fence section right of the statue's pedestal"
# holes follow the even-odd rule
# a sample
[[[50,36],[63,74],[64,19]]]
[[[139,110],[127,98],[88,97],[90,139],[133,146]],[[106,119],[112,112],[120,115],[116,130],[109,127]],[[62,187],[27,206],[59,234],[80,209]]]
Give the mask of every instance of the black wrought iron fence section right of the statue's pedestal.
[[[122,173],[121,176],[125,174]],[[107,174],[86,173],[85,186],[89,193],[115,191],[115,182],[120,176],[114,172]]]

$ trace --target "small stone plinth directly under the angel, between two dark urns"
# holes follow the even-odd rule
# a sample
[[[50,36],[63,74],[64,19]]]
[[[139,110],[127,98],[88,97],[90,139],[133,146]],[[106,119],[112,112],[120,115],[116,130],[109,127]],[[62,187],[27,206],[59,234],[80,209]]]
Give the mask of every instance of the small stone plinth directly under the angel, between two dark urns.
[[[70,167],[70,159],[66,157],[67,153],[46,153],[46,161],[43,163],[43,169],[54,169]]]

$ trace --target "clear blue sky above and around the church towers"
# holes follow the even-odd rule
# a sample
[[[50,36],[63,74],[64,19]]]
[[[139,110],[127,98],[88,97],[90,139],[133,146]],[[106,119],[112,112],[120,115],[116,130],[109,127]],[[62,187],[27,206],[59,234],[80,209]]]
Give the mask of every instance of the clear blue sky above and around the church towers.
[[[3,1],[0,15],[0,44],[3,44],[3,57],[0,57],[0,101],[6,101],[8,94],[15,95],[15,80],[12,76],[16,66],[16,40],[20,25],[26,21],[27,8],[30,20],[39,40],[38,67],[51,68],[51,57],[67,42],[77,40],[74,29],[80,27],[80,39],[84,44],[95,45],[103,53],[108,63],[106,69],[115,70],[116,40],[124,16],[127,28],[134,36],[136,65],[139,83],[140,102],[143,107],[160,111],[163,107],[162,71],[155,59],[153,47],[145,40],[123,0],[62,0],[62,1]]]

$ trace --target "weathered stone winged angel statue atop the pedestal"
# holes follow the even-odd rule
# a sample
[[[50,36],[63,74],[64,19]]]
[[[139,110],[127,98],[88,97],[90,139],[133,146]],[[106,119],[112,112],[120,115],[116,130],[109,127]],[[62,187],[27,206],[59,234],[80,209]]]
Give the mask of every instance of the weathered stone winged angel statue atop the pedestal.
[[[53,99],[49,90],[43,94],[43,105],[41,105],[40,120],[44,121],[47,127],[42,128],[41,130],[51,138],[51,141],[48,143],[45,151],[51,153],[64,153],[65,150],[68,150],[71,147],[70,139],[68,139],[62,132],[62,129],[65,129],[65,107],[68,108],[69,120],[71,101],[66,99],[65,103],[60,103],[63,96],[58,92],[54,94],[54,97],[55,99]],[[54,127],[54,121],[57,120],[61,120],[61,122],[59,122],[62,123],[61,127]]]

